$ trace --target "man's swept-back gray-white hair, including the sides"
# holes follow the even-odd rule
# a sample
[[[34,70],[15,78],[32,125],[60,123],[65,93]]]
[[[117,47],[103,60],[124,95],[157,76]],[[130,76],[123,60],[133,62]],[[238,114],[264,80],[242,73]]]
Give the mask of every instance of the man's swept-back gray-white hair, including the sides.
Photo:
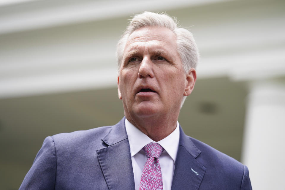
[[[127,26],[124,34],[118,41],[116,52],[118,70],[120,69],[123,61],[124,49],[128,37],[137,29],[153,26],[168,28],[175,34],[176,50],[180,56],[185,72],[188,72],[191,68],[196,68],[199,61],[199,52],[193,34],[184,28],[180,28],[178,26],[177,19],[170,17],[166,13],[143,12],[142,14],[134,15],[129,26]],[[183,97],[181,107],[185,99],[186,96]]]

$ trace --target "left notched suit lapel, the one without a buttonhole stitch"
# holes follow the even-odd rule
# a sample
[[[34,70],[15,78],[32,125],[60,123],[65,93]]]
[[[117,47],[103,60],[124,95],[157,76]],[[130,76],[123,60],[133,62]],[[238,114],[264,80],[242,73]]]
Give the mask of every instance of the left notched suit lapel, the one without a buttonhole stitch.
[[[134,190],[134,174],[125,118],[102,139],[108,145],[96,151],[108,188]]]

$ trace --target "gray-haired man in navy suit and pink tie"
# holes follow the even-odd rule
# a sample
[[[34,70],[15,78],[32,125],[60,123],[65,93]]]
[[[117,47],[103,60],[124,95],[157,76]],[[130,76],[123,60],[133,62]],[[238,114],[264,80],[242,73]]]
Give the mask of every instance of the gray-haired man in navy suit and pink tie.
[[[196,81],[189,31],[168,15],[144,12],[130,22],[117,56],[125,117],[47,137],[20,189],[251,189],[246,166],[178,124]]]

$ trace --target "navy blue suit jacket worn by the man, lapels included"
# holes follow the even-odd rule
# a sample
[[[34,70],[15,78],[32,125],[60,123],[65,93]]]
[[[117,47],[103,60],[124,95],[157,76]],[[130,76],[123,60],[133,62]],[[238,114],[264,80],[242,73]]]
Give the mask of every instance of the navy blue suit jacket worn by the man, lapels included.
[[[125,118],[114,126],[47,137],[20,189],[134,190]],[[248,190],[251,183],[246,166],[180,127],[171,189]]]

